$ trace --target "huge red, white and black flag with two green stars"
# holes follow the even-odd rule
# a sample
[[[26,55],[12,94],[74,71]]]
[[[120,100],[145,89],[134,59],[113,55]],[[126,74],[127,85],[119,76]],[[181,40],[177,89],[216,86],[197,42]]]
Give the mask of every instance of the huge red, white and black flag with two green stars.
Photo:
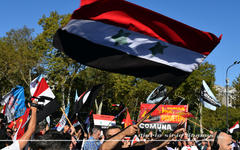
[[[82,64],[178,86],[220,40],[125,0],[81,0],[53,44]]]

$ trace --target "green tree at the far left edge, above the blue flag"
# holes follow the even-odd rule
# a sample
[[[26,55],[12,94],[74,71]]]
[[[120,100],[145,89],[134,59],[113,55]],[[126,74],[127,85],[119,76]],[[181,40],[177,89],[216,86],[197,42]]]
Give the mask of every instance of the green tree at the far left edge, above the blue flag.
[[[6,94],[20,84],[29,89],[31,74],[37,68],[41,52],[33,49],[33,29],[24,26],[10,30],[0,39],[0,85]],[[26,90],[29,94],[29,90]]]

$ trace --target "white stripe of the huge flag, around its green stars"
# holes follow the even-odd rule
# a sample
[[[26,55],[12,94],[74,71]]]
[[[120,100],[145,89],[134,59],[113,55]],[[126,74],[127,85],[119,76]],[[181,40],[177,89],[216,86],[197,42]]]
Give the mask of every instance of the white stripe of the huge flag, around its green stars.
[[[175,67],[186,72],[195,70],[206,57],[200,53],[144,34],[92,20],[72,19],[63,29],[96,44],[111,47],[127,54]],[[116,40],[111,37],[118,34],[120,30],[123,30],[124,33],[129,33],[129,36],[126,38],[126,43],[116,46]],[[158,43],[164,47],[163,54],[157,53],[154,55],[150,49]]]

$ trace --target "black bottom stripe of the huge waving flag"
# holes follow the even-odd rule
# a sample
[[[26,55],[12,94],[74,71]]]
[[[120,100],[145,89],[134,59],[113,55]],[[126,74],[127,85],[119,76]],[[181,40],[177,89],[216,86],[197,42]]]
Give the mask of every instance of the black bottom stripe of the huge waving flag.
[[[55,34],[54,46],[82,64],[110,72],[133,75],[164,85],[176,87],[190,74],[190,72],[93,43],[62,29]]]

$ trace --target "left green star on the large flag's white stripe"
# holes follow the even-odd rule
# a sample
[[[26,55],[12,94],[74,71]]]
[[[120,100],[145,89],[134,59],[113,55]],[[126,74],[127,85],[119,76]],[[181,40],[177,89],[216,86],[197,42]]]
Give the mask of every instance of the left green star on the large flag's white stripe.
[[[123,44],[127,44],[127,37],[130,35],[131,33],[128,32],[124,32],[122,29],[118,31],[118,33],[116,35],[113,35],[111,38],[113,40],[115,40],[115,46],[118,45],[123,45]]]

